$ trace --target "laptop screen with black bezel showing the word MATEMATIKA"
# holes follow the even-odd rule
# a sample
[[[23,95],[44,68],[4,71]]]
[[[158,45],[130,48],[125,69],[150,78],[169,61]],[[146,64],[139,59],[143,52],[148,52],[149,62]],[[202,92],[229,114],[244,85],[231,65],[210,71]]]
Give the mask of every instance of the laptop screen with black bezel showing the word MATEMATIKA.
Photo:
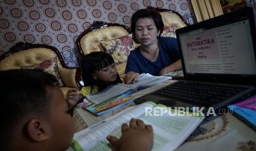
[[[183,71],[188,77],[255,78],[254,18],[243,11],[248,10],[177,30]]]

